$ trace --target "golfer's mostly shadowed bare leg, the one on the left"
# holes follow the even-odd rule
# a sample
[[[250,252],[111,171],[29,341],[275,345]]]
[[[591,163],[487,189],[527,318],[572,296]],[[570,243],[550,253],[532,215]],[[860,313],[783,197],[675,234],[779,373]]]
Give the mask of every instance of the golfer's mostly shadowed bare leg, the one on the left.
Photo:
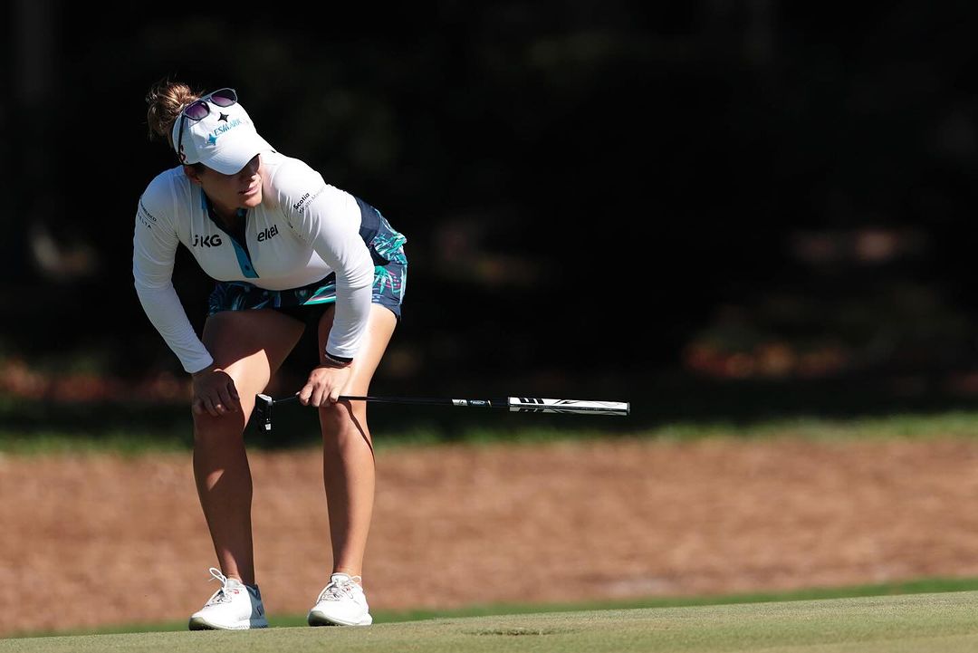
[[[251,471],[244,425],[254,396],[268,385],[302,335],[300,322],[272,310],[225,311],[207,319],[202,340],[235,382],[240,413],[194,415],[194,477],[221,571],[254,584]]]

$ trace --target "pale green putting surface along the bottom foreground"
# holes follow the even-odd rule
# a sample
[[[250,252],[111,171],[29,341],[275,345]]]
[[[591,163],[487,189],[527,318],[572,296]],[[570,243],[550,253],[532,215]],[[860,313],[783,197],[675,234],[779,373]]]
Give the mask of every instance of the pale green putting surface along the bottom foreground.
[[[978,652],[978,592],[435,619],[366,629],[0,639],[0,652]]]

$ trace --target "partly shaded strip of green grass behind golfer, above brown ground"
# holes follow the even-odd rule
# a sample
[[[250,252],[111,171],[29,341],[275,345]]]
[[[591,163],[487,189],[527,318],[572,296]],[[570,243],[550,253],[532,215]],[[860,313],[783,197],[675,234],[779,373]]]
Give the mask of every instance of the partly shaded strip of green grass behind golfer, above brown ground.
[[[627,417],[513,414],[506,411],[418,405],[372,405],[378,448],[441,443],[539,443],[639,437],[695,440],[714,437],[817,439],[974,437],[973,397],[923,379],[914,390],[889,377],[794,381],[708,381],[686,375],[642,375],[610,380],[603,390],[573,386],[529,392],[547,396],[631,402]],[[924,383],[923,381],[927,381]],[[494,387],[494,383],[496,386]],[[378,381],[374,394],[503,396],[518,387],[479,379],[439,385],[419,381],[417,393]],[[950,387],[950,386],[949,386]],[[422,390],[423,388],[423,390]],[[477,390],[475,388],[478,388]],[[506,390],[505,392],[502,390]],[[251,449],[287,449],[319,442],[315,411],[297,404],[275,413],[271,433],[250,424]],[[0,394],[0,453],[187,451],[192,446],[186,402],[132,399],[71,402]]]

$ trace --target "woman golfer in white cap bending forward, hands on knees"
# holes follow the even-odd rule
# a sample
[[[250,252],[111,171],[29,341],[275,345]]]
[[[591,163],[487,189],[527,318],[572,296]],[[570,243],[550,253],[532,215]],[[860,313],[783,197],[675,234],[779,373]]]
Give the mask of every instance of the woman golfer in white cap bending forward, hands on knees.
[[[251,545],[251,475],[244,425],[306,326],[319,360],[299,392],[319,409],[333,573],[312,626],[372,623],[361,571],[374,504],[366,402],[400,319],[405,238],[380,212],[327,184],[255,131],[233,89],[206,95],[182,83],[149,92],[151,137],[180,165],[140,197],[133,239],[136,292],[193,378],[194,475],[222,587],[192,630],[265,628]],[[216,281],[198,337],[171,281],[177,245]]]

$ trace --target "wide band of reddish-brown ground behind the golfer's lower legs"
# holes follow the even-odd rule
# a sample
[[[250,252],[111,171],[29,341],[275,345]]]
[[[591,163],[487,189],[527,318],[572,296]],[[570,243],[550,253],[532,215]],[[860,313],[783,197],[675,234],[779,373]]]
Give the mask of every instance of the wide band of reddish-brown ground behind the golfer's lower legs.
[[[258,582],[330,571],[315,451],[251,455]],[[0,635],[186,619],[217,588],[189,455],[0,457]],[[978,576],[978,441],[381,450],[376,609]]]

